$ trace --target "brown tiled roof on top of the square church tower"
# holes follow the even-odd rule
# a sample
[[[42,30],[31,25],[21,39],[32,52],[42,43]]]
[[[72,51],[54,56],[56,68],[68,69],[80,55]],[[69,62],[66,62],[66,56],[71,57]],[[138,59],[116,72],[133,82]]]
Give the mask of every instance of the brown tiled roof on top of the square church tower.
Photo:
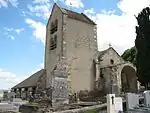
[[[95,22],[93,22],[90,18],[88,18],[85,14],[83,13],[77,13],[68,9],[61,8],[62,12],[64,14],[67,14],[69,18],[79,20],[88,24],[96,25]]]

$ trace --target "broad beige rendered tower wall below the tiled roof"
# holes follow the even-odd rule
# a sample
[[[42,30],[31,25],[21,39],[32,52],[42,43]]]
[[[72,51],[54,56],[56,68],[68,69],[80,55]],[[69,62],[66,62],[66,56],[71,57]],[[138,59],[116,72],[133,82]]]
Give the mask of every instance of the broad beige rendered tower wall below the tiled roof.
[[[94,55],[97,52],[96,26],[70,18],[67,18],[66,22],[64,32],[66,48],[64,50],[68,64],[72,62],[71,87],[73,92],[93,90],[92,66]]]

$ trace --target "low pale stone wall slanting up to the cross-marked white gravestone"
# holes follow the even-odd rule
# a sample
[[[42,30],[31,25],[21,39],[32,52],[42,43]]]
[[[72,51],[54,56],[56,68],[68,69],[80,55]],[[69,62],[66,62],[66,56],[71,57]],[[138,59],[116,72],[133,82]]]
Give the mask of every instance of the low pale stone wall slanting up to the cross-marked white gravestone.
[[[89,113],[88,111],[90,111],[90,110],[94,110],[97,113],[107,113],[106,104],[95,105],[95,106],[90,106],[90,107],[83,107],[83,108],[80,108],[80,109],[57,111],[57,112],[53,112],[53,113]],[[96,113],[96,112],[94,112],[94,113]]]

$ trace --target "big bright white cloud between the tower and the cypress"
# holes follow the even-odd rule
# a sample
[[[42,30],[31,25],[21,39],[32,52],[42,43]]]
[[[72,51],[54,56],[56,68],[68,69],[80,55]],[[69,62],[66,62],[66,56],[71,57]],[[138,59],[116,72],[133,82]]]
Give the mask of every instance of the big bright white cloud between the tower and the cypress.
[[[120,0],[117,5],[122,11],[121,15],[117,15],[115,11],[105,10],[95,16],[86,12],[97,23],[99,50],[107,49],[111,43],[122,54],[125,49],[134,46],[137,25],[134,15],[149,4],[149,0]]]

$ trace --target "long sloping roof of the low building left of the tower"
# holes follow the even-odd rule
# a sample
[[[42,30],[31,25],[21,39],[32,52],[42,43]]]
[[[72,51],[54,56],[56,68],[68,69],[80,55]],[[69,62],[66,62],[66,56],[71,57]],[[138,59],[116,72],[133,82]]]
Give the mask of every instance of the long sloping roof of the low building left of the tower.
[[[12,89],[34,87],[37,85],[39,77],[42,76],[44,73],[45,73],[45,70],[41,69],[38,72],[31,75],[29,78],[25,79],[24,81],[20,82],[16,86],[14,86]]]

